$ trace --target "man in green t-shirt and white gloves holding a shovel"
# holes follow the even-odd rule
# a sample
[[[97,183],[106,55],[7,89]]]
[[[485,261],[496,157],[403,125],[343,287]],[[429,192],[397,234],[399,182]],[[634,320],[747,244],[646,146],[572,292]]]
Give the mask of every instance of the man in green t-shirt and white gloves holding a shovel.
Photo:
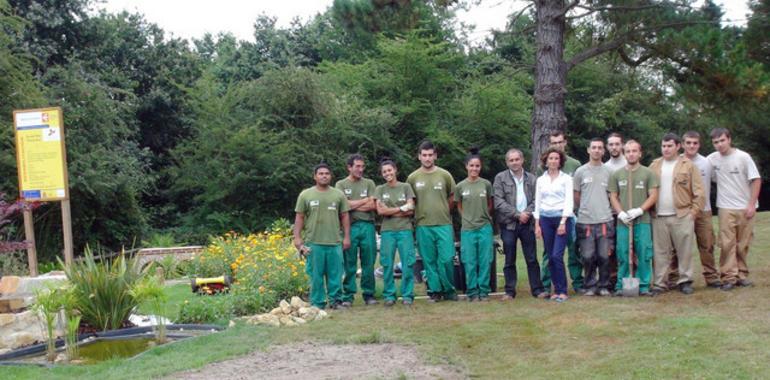
[[[634,254],[636,256],[636,277],[639,278],[639,292],[651,296],[652,279],[652,233],[649,210],[658,200],[658,178],[652,170],[639,163],[642,157],[642,145],[635,140],[628,140],[624,147],[626,166],[610,176],[610,204],[618,213],[616,231],[616,249],[618,255],[618,282],[615,295],[622,295],[621,278],[630,277],[628,257],[629,226],[633,226]]]

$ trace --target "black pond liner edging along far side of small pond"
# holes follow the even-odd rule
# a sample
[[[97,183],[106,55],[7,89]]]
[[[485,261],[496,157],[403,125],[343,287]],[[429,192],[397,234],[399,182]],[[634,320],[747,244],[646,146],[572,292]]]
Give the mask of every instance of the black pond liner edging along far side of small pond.
[[[170,331],[181,331],[181,330],[222,331],[223,328],[221,326],[216,326],[216,325],[195,325],[195,324],[166,325],[166,331],[170,332]],[[83,343],[83,340],[88,338],[120,339],[120,338],[139,336],[152,331],[153,331],[152,326],[143,326],[143,327],[131,327],[131,328],[120,329],[120,330],[110,330],[110,331],[101,331],[96,333],[80,334],[78,335],[78,344]],[[179,335],[176,335],[176,334],[173,334],[173,335],[167,334],[167,336],[175,337],[175,338],[180,337]],[[48,345],[46,343],[38,343],[38,344],[33,344],[31,346],[18,348],[11,352],[6,352],[5,354],[0,355],[0,364],[13,365],[12,363],[9,363],[8,360],[19,359],[25,356],[30,356],[30,355],[39,354],[41,352],[45,352],[47,346]],[[61,338],[56,339],[56,348],[61,348],[61,347],[64,347],[64,339],[61,339]]]

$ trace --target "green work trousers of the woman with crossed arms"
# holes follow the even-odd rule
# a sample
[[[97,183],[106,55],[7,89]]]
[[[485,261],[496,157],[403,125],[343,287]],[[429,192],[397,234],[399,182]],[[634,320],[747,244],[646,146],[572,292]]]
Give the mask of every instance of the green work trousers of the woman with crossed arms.
[[[393,264],[401,259],[401,297],[404,301],[414,301],[414,238],[412,230],[383,231],[380,235],[380,264],[384,287],[382,298],[396,300],[396,283],[393,279]]]

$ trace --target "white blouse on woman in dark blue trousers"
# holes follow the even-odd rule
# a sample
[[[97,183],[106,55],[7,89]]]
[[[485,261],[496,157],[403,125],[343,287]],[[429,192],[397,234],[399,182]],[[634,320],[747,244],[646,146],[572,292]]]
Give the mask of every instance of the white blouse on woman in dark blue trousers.
[[[540,216],[571,217],[573,216],[574,193],[572,177],[563,171],[551,179],[548,172],[537,179],[535,189],[535,219]]]

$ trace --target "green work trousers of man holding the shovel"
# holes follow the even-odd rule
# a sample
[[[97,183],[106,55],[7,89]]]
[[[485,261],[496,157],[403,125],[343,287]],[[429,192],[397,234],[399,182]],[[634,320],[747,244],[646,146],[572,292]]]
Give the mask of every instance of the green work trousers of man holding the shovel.
[[[652,229],[650,223],[634,223],[634,257],[636,258],[636,272],[634,277],[639,278],[639,291],[650,290],[652,280]],[[615,234],[615,254],[618,255],[618,281],[615,290],[623,289],[622,278],[630,277],[628,260],[628,226],[619,222]]]

